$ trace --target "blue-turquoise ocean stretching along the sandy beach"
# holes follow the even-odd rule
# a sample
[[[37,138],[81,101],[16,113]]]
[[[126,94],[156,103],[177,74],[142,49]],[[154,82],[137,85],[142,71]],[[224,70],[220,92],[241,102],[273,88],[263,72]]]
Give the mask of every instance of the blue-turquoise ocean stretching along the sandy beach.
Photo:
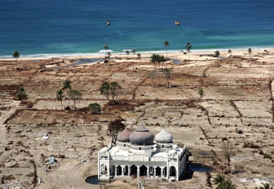
[[[110,21],[110,26],[106,25]],[[175,26],[175,20],[180,21]],[[273,0],[0,0],[0,58],[274,47]]]

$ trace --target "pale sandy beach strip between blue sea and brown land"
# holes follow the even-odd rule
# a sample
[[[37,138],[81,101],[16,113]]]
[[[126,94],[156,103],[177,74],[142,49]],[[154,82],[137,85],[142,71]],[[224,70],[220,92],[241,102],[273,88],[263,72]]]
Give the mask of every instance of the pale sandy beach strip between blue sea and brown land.
[[[207,49],[207,50],[191,50],[190,51],[190,59],[192,59],[194,56],[206,56],[206,55],[212,55],[214,54],[215,51],[220,52],[220,56],[229,56],[227,50],[215,50],[215,49]],[[230,49],[231,50],[231,56],[245,56],[247,55],[247,49]],[[265,48],[252,48],[252,55],[254,56],[255,54],[263,53],[263,54],[268,54],[268,53],[274,53],[274,47],[265,47]],[[152,54],[163,54],[166,56],[172,56],[173,58],[179,58],[179,59],[185,59],[183,56],[187,53],[187,50],[159,50],[159,51],[143,51],[143,52],[136,52],[136,54],[129,54],[129,59],[132,59],[133,56],[137,57],[137,54],[140,53],[141,58],[150,58]],[[64,60],[73,60],[73,59],[104,59],[105,53],[87,53],[87,54],[41,54],[41,56],[38,55],[27,55],[27,56],[20,56],[17,61],[42,61],[42,60],[52,60],[52,59],[64,59]],[[120,57],[124,58],[127,57],[128,55],[124,52],[113,52],[111,54],[111,58],[114,59],[115,57]],[[188,55],[187,55],[188,56]],[[8,56],[6,58],[3,58],[0,56],[0,61],[14,61],[15,58],[12,56]]]

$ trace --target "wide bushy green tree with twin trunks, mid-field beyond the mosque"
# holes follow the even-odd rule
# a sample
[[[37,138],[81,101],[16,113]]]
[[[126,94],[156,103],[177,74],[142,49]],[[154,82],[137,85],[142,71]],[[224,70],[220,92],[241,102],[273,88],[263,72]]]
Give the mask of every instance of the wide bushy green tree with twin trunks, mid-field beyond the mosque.
[[[110,103],[110,105],[114,105],[117,97],[121,93],[121,89],[122,86],[120,86],[120,84],[118,84],[117,82],[104,82],[101,86],[100,93],[101,95],[106,96],[106,99],[108,100],[108,103]]]

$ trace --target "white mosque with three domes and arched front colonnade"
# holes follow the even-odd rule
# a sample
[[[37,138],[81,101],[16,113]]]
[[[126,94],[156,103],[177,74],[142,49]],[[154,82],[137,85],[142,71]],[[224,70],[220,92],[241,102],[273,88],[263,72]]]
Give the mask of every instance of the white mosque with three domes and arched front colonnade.
[[[165,129],[155,135],[144,126],[117,135],[117,146],[98,152],[98,179],[146,178],[178,181],[187,166],[187,147],[173,144]]]

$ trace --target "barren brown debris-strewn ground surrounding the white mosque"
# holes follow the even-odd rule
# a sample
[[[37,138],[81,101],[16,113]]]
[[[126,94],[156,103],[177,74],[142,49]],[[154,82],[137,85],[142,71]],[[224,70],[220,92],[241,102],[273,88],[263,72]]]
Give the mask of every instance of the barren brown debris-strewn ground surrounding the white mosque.
[[[166,128],[175,144],[187,145],[192,162],[215,168],[212,178],[222,173],[237,188],[274,185],[274,51],[222,53],[225,59],[169,54],[182,63],[164,64],[172,68],[168,86],[161,68],[152,78],[154,65],[145,57],[78,66],[70,66],[77,59],[65,58],[0,61],[0,188],[137,188],[136,179],[85,181],[97,174],[97,151],[110,142],[108,123],[117,118],[131,130],[143,123],[154,135]],[[62,110],[56,100],[64,80],[82,93],[76,111],[73,101],[63,100],[71,110]],[[103,82],[122,86],[119,105],[108,105],[100,94]],[[20,86],[27,100],[16,99]],[[101,114],[91,114],[90,103],[101,104]],[[206,179],[206,172],[194,172],[192,179],[146,180],[144,186],[210,188]]]

